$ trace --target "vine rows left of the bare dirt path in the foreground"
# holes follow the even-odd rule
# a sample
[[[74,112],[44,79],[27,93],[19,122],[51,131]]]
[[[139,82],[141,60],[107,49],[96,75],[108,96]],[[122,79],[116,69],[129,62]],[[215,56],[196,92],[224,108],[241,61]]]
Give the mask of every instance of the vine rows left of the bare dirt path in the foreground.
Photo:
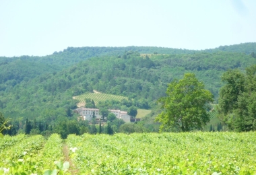
[[[42,135],[5,136],[0,140],[0,173],[44,174],[49,170],[60,172],[55,163],[64,160],[62,148],[62,139],[56,134],[47,140]]]

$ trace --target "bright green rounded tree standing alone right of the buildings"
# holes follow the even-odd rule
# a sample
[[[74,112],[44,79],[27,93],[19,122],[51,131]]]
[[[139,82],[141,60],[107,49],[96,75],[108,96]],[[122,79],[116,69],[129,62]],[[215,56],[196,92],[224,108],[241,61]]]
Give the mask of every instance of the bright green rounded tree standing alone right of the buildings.
[[[204,89],[193,73],[185,73],[184,78],[172,81],[166,90],[166,97],[158,100],[164,111],[156,120],[161,122],[160,131],[165,127],[176,127],[181,131],[202,129],[210,116],[205,104],[213,101],[213,95]]]

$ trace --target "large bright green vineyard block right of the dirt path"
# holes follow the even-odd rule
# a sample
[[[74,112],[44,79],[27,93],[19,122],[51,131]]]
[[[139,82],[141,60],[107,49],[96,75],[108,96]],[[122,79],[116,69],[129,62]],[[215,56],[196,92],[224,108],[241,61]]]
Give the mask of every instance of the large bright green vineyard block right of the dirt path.
[[[255,174],[254,135],[69,135],[67,145],[80,174]]]

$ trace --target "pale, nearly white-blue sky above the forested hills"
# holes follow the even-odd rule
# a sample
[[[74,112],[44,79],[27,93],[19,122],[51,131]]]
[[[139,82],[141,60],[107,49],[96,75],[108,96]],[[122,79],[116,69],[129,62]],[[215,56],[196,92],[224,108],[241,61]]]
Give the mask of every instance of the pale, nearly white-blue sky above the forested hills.
[[[255,0],[0,0],[0,56],[67,47],[203,50],[256,42]]]

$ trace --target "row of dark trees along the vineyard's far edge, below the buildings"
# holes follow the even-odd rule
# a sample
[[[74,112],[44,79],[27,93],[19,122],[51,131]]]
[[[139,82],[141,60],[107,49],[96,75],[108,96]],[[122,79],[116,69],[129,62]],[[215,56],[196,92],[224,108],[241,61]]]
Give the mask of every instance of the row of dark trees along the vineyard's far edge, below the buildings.
[[[143,126],[143,122],[139,123],[125,123],[123,120],[116,118],[115,114],[109,113],[106,116],[107,120],[97,121],[93,118],[90,122],[87,120],[63,120],[57,125],[49,125],[42,121],[29,121],[25,123],[11,121],[5,122],[5,118],[1,116],[1,135],[17,135],[18,133],[25,133],[26,135],[43,135],[49,137],[53,133],[58,133],[63,139],[67,138],[69,134],[83,135],[90,134],[108,134],[114,133],[145,133],[152,132],[149,128]],[[156,130],[157,131],[157,130]]]

